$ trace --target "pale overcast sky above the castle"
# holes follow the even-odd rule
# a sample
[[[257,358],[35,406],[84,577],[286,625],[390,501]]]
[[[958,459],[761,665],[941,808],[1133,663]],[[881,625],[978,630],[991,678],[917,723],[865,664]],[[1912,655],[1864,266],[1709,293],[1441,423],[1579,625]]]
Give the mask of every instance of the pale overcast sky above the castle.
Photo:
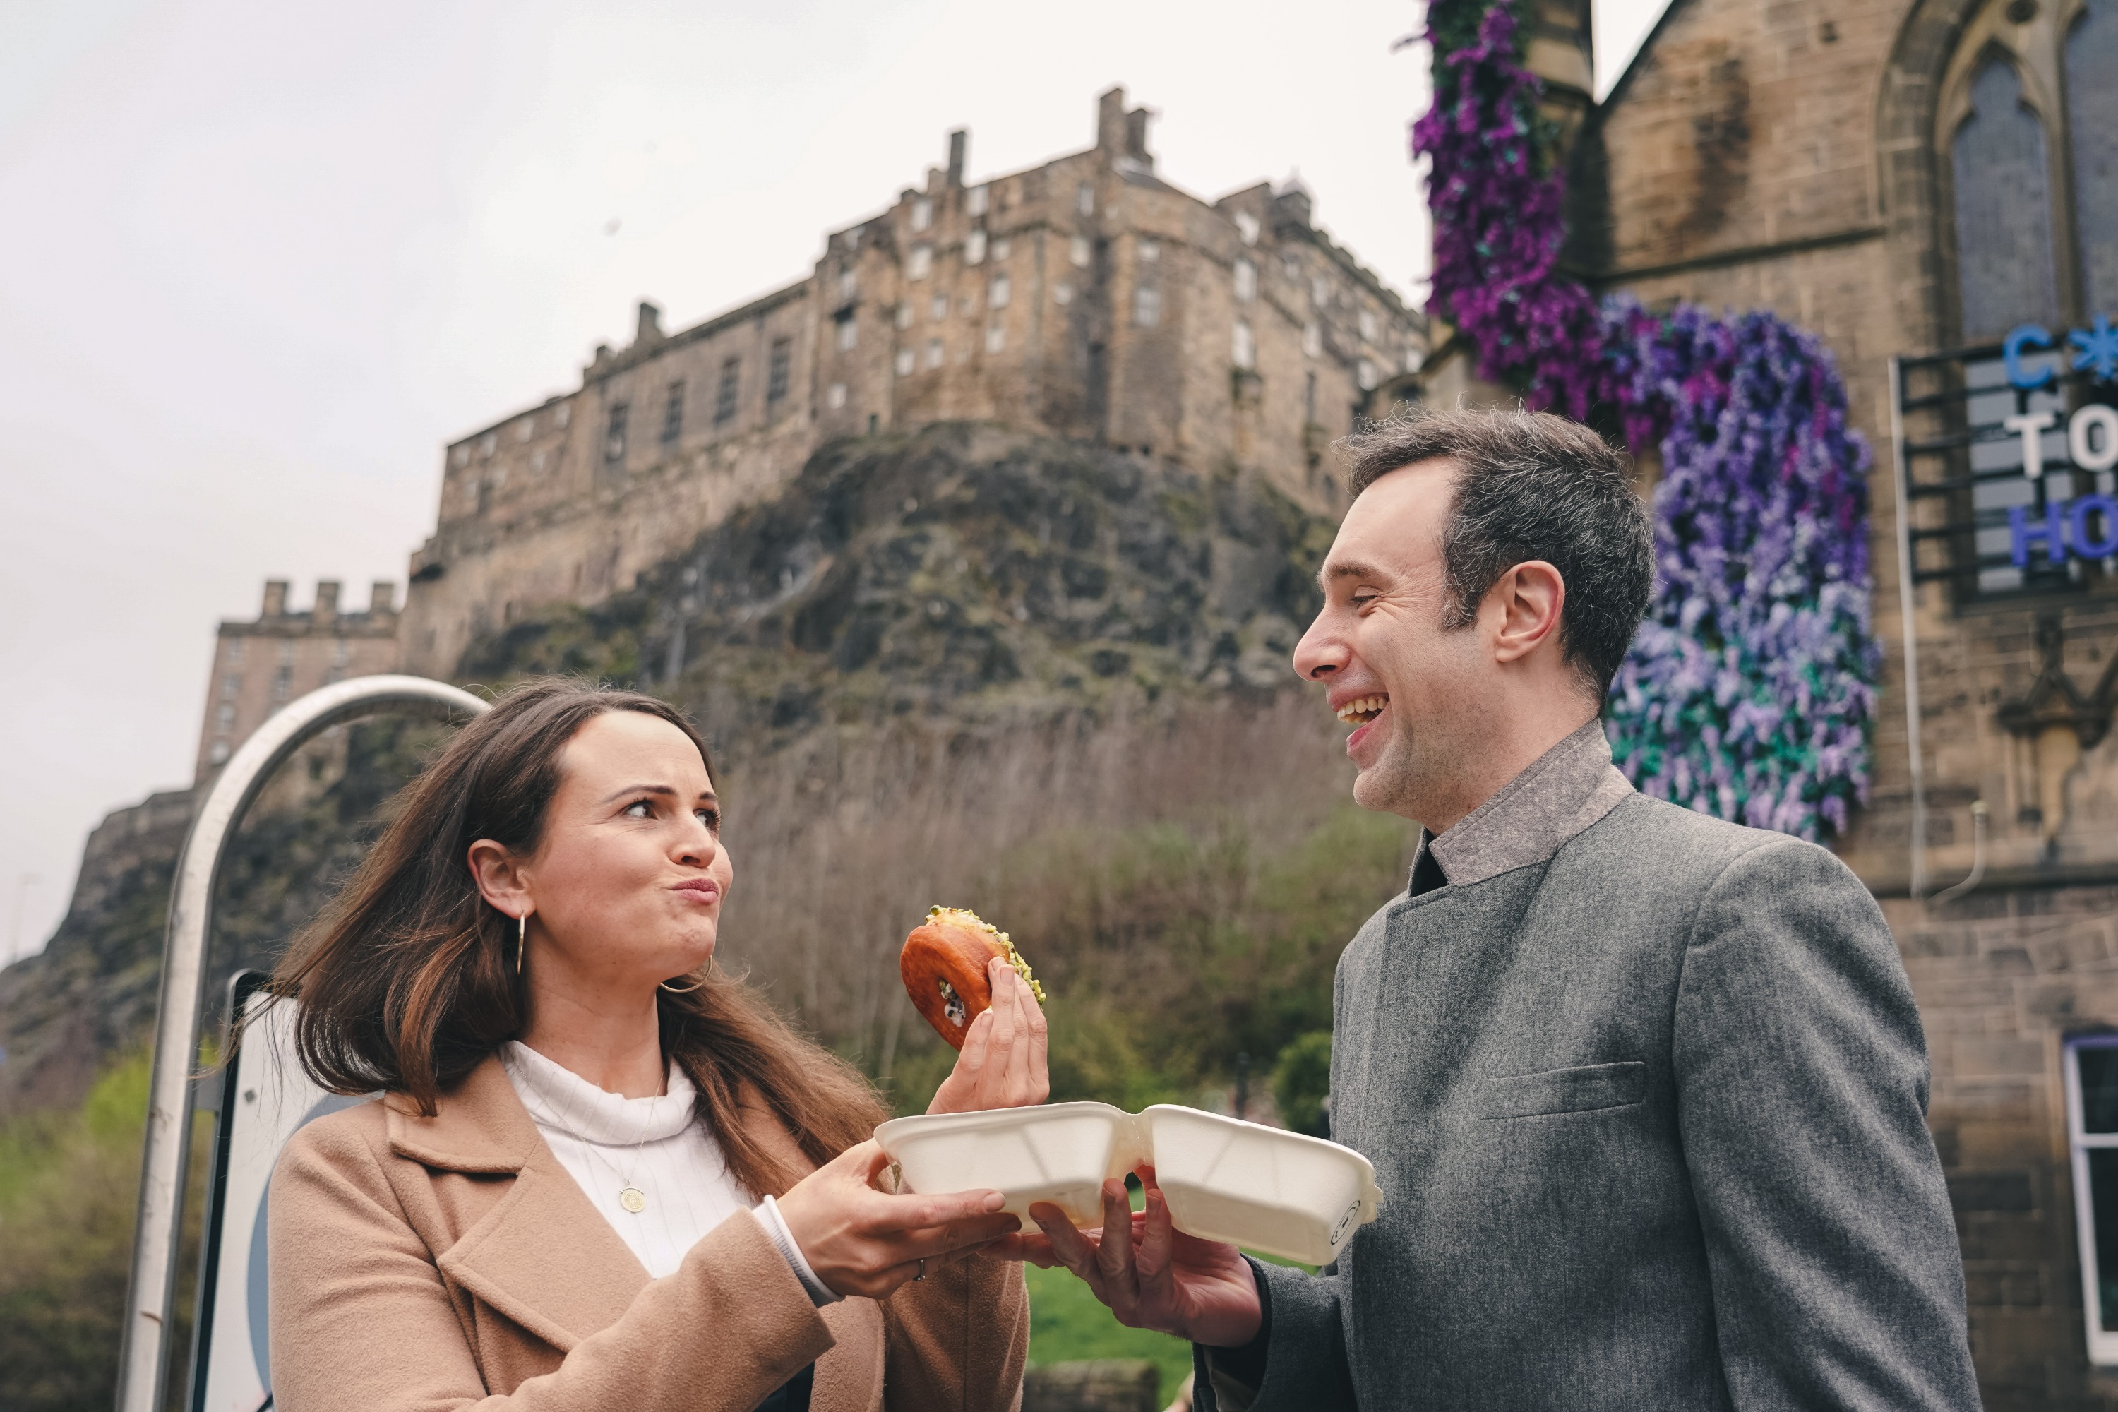
[[[1599,17],[1616,53],[1654,0]],[[8,0],[0,6],[0,963],[80,840],[189,783],[218,618],[402,582],[441,445],[801,277],[921,180],[1161,116],[1165,178],[1300,171],[1421,296],[1417,4]],[[1614,49],[1614,44],[1618,49]],[[618,222],[616,233],[606,233]]]

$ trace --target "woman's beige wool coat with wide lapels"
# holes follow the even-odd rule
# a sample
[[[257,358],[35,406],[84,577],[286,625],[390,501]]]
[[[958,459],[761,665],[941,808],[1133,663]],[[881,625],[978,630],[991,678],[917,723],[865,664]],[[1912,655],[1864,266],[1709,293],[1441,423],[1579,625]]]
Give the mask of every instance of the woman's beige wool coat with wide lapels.
[[[813,1412],[1021,1401],[1029,1296],[964,1260],[815,1308],[739,1213],[648,1279],[500,1061],[434,1118],[385,1097],[301,1128],[271,1181],[277,1412],[750,1412],[815,1363]],[[807,1171],[760,1105],[752,1133]]]

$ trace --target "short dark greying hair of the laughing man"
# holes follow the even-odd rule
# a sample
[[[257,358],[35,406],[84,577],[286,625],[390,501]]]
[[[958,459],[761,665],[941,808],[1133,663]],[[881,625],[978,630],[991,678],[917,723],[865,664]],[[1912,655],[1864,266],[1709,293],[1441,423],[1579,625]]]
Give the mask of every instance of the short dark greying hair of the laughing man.
[[[1400,466],[1453,461],[1442,627],[1468,627],[1502,574],[1544,559],[1567,582],[1559,618],[1565,660],[1597,696],[1610,692],[1654,593],[1648,508],[1616,449],[1552,413],[1466,409],[1413,409],[1368,423],[1341,447],[1356,497]]]

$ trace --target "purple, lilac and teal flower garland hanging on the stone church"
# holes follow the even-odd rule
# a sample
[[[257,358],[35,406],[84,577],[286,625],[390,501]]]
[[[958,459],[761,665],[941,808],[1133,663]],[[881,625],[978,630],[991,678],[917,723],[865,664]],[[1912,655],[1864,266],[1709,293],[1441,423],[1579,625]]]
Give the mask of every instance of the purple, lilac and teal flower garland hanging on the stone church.
[[[1434,307],[1478,375],[1658,447],[1656,595],[1605,724],[1644,792],[1805,838],[1868,792],[1868,447],[1830,351],[1773,313],[1597,305],[1559,273],[1565,180],[1512,0],[1434,0]]]

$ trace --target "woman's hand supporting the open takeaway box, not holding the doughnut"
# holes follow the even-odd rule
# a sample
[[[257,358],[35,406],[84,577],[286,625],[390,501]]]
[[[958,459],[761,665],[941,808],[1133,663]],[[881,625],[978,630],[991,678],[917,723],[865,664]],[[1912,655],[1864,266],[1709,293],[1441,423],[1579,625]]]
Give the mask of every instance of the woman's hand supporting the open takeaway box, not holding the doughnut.
[[[803,1260],[834,1293],[879,1300],[915,1274],[932,1274],[1021,1226],[1000,1211],[1000,1192],[881,1192],[875,1177],[885,1166],[890,1158],[866,1141],[777,1198]]]

